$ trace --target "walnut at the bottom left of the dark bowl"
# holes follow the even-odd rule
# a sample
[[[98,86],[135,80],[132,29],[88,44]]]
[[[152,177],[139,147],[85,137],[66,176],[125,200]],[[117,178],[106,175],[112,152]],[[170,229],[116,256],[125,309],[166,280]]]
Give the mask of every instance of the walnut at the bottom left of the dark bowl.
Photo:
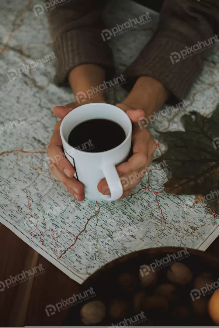
[[[105,305],[100,301],[92,301],[85,304],[80,311],[81,321],[85,325],[99,323],[106,315]]]

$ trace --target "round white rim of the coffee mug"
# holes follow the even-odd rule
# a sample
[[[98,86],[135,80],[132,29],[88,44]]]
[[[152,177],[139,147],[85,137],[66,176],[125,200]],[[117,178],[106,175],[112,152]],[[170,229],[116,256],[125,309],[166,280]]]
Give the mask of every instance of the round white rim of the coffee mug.
[[[114,107],[114,108],[117,108],[118,109],[118,111],[121,111],[123,114],[124,114],[124,117],[126,117],[127,119],[128,119],[128,124],[129,124],[129,132],[128,132],[128,134],[127,134],[127,136],[126,136],[126,138],[125,138],[125,140],[123,140],[122,141],[122,143],[120,143],[120,145],[118,145],[118,146],[116,146],[116,147],[114,147],[114,148],[112,148],[112,149],[109,149],[109,150],[106,150],[106,151],[104,151],[104,152],[98,152],[98,153],[90,153],[90,152],[83,152],[83,151],[81,151],[81,150],[79,150],[79,149],[76,149],[76,148],[74,148],[73,146],[71,146],[66,140],[65,140],[65,138],[64,138],[64,136],[63,136],[63,133],[62,133],[62,130],[63,130],[63,122],[65,121],[65,119],[67,118],[67,116],[69,115],[69,114],[71,114],[73,111],[74,111],[74,109],[71,111],[71,112],[69,112],[64,118],[63,118],[63,120],[62,120],[62,123],[61,123],[61,125],[60,125],[60,136],[61,136],[61,139],[62,139],[62,141],[64,140],[65,142],[66,142],[66,144],[69,146],[69,147],[71,147],[72,149],[74,149],[74,151],[77,153],[83,153],[83,154],[90,154],[90,155],[97,155],[97,154],[108,154],[108,153],[110,153],[110,152],[112,152],[112,151],[114,151],[114,150],[116,150],[116,149],[118,149],[118,148],[120,148],[120,147],[122,147],[126,142],[127,142],[127,140],[130,138],[130,135],[131,135],[131,133],[132,133],[132,122],[131,122],[131,120],[130,120],[130,118],[128,117],[128,115],[122,110],[122,109],[120,109],[119,107],[116,107],[116,106],[114,106],[114,105],[111,105],[111,104],[105,104],[105,103],[90,103],[90,104],[84,104],[84,105],[81,105],[81,106],[79,106],[80,108],[82,108],[83,106],[90,106],[90,105],[92,105],[92,106],[94,106],[94,105],[103,105],[103,106],[110,106],[110,107]],[[79,108],[79,107],[77,107],[77,108]],[[77,108],[75,108],[75,109],[77,109]],[[97,117],[95,117],[95,118],[97,118]],[[100,118],[102,118],[102,117],[100,117]],[[84,122],[84,121],[82,121],[82,122]],[[81,123],[82,123],[81,122]],[[122,127],[123,128],[123,127]],[[65,150],[65,149],[64,149]],[[66,150],[65,150],[66,151]],[[66,153],[67,153],[67,151],[66,151]],[[67,153],[68,154],[68,153]]]

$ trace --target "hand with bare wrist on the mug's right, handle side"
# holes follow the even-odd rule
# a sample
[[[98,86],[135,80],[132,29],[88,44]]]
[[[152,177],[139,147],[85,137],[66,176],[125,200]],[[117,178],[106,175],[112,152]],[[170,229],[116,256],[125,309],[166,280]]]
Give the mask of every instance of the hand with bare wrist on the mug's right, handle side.
[[[153,153],[157,148],[154,138],[142,126],[140,121],[144,117],[156,112],[168,97],[169,92],[161,82],[151,77],[143,76],[137,80],[128,97],[121,104],[117,105],[129,116],[133,123],[133,155],[127,162],[117,167],[123,186],[123,194],[118,200],[128,196],[136,185],[139,184],[146,173],[148,165],[152,162]],[[110,194],[106,179],[99,182],[98,190],[103,195]]]

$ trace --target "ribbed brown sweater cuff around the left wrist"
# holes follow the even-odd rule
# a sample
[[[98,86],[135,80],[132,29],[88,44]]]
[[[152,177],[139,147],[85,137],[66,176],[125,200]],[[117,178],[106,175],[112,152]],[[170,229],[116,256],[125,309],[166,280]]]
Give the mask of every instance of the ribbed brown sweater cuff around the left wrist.
[[[111,49],[101,37],[101,30],[74,30],[59,35],[54,41],[57,57],[55,83],[67,82],[72,69],[82,64],[95,64],[106,72],[106,80],[114,75]]]

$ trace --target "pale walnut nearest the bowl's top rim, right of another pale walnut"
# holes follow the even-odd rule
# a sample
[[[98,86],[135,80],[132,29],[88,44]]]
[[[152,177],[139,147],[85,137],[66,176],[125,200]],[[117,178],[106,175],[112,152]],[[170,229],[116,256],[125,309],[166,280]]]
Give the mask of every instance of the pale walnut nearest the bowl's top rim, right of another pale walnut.
[[[167,278],[173,283],[186,285],[192,280],[192,273],[185,264],[174,263],[167,272]]]

